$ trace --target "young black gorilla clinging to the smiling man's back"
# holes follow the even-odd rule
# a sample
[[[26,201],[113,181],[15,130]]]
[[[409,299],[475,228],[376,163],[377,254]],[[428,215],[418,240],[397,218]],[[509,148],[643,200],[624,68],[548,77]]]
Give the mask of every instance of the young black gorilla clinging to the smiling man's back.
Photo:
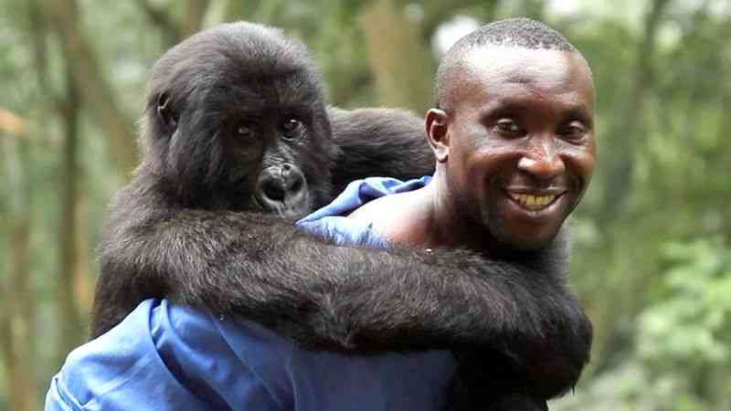
[[[168,51],[150,84],[147,154],[102,242],[93,334],[141,300],[167,296],[311,348],[480,348],[488,366],[506,359],[514,389],[547,398],[573,386],[588,361],[590,324],[566,288],[560,241],[494,255],[343,248],[282,218],[326,204],[333,182],[344,183],[338,174],[429,169],[394,161],[400,147],[417,147],[408,120],[397,120],[403,114],[331,115],[334,139],[304,47],[277,30],[217,26]],[[346,126],[364,115],[401,130]],[[382,147],[394,168],[368,163]]]

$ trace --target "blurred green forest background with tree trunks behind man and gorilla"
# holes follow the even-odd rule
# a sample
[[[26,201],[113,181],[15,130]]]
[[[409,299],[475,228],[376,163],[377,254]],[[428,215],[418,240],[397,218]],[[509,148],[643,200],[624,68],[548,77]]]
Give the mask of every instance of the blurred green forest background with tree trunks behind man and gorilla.
[[[595,325],[567,410],[731,410],[731,2],[0,0],[0,410],[40,409],[87,336],[111,195],[164,49],[222,21],[310,47],[327,100],[431,104],[445,47],[496,18],[564,33],[596,78],[599,167],[572,220]]]

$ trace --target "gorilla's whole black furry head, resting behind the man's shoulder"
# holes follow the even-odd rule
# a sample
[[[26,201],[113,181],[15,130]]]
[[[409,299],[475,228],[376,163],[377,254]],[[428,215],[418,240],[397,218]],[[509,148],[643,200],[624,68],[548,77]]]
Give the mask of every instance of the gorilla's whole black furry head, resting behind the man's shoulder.
[[[139,172],[171,202],[281,216],[326,202],[334,148],[301,42],[267,26],[215,26],[168,50],[148,90]]]

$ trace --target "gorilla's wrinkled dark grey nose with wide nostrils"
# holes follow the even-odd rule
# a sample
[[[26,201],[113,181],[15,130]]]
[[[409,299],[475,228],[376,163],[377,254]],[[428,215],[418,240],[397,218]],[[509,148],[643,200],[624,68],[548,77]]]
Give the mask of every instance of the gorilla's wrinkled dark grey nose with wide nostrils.
[[[274,165],[261,173],[256,195],[268,211],[296,216],[307,208],[307,180],[296,165]]]

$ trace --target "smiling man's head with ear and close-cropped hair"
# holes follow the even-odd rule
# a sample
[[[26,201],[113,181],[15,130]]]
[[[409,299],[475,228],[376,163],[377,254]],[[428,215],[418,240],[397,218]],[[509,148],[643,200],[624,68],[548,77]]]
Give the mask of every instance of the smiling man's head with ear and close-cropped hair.
[[[451,47],[437,98],[426,127],[453,217],[487,235],[488,247],[545,247],[594,168],[586,60],[541,23],[503,20]]]

